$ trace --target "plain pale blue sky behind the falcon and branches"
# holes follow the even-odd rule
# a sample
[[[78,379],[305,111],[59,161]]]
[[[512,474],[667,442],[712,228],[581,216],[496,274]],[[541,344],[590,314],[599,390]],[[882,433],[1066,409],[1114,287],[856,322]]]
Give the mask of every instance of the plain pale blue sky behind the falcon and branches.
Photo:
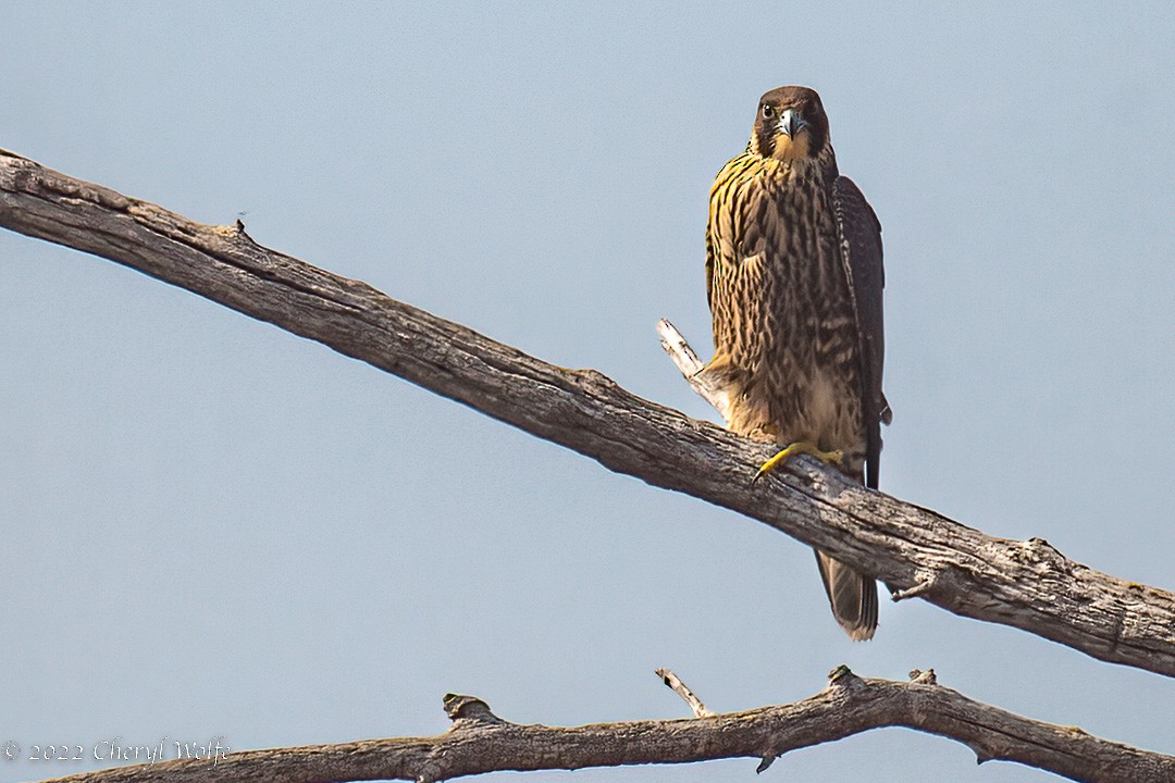
[[[1169,2],[7,2],[0,27],[0,147],[246,212],[699,417],[653,324],[709,346],[710,182],[764,90],[810,85],[885,227],[882,490],[1175,587]],[[0,259],[0,742],[436,734],[450,690],[518,722],[672,717],[658,666],[732,710],[847,662],[1175,754],[1169,679],[916,601],[851,644],[763,525],[109,262],[6,232]],[[764,777],[1053,779],[904,730]]]

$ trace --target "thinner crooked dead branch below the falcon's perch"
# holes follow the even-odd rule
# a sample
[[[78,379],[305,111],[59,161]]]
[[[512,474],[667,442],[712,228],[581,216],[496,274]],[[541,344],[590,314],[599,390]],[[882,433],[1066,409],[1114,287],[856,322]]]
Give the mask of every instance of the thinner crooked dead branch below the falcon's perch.
[[[400,779],[436,783],[503,770],[684,764],[716,758],[772,760],[797,748],[882,727],[958,740],[980,763],[1013,761],[1074,781],[1160,783],[1175,779],[1175,757],[1100,740],[1075,727],[1032,721],[944,688],[914,671],[911,682],[862,680],[838,667],[810,698],[745,713],[676,721],[627,721],[577,728],[503,721],[474,696],[449,694],[454,723],[437,737],[230,752],[58,778],[59,783],[289,783]],[[770,763],[770,762],[767,762]],[[763,764],[760,763],[760,768]]]

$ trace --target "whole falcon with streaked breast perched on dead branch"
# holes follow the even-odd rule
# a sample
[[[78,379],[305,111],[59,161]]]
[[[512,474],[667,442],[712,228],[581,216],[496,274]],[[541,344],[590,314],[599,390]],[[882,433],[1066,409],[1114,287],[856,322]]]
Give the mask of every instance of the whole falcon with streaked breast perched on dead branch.
[[[881,224],[837,170],[820,96],[766,93],[746,151],[714,180],[706,229],[706,373],[727,396],[731,430],[786,446],[758,475],[808,453],[877,488],[891,419],[884,285]],[[877,583],[815,554],[837,621],[853,640],[871,639]]]

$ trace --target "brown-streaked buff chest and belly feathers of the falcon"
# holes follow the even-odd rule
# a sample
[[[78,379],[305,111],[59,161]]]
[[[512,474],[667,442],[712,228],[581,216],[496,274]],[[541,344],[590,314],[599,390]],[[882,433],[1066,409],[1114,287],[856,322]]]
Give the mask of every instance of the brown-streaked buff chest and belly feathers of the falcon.
[[[857,452],[857,322],[824,171],[747,153],[718,175],[707,230],[716,358],[736,431]]]

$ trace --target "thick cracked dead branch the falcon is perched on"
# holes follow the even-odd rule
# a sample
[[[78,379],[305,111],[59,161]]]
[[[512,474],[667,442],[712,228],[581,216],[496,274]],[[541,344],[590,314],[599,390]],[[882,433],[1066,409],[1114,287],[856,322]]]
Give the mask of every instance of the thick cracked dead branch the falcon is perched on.
[[[1175,595],[998,539],[397,302],[365,283],[0,150],[0,225],[90,252],[419,384],[618,473],[765,522],[891,590],[1175,675]]]

